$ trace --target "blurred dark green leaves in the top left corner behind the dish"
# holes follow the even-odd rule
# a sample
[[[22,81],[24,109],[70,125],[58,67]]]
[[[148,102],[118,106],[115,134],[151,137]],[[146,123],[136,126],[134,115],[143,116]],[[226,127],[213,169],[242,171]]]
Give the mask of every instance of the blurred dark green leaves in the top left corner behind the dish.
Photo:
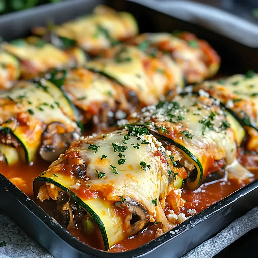
[[[60,1],[62,0],[0,0],[0,14],[25,10],[36,5]]]

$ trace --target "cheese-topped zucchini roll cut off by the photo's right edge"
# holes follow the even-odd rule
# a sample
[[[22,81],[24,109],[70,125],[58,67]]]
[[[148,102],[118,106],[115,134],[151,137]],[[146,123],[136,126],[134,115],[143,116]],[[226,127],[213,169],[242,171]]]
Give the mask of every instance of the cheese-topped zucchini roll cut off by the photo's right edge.
[[[258,76],[253,70],[246,75],[233,75],[218,81],[206,81],[193,88],[200,94],[209,94],[243,126],[238,134],[239,145],[248,151],[258,151]],[[205,92],[206,93],[205,93]],[[245,139],[244,139],[245,138]],[[244,141],[243,141],[244,140]]]

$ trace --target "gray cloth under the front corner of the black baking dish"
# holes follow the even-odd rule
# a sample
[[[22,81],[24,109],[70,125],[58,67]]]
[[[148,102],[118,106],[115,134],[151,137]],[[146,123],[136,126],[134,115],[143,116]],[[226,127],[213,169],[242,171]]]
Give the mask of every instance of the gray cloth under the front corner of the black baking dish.
[[[258,207],[235,220],[213,238],[205,241],[182,258],[212,258],[249,230],[258,227]],[[8,216],[0,211],[0,258],[53,258],[40,244],[27,235]]]

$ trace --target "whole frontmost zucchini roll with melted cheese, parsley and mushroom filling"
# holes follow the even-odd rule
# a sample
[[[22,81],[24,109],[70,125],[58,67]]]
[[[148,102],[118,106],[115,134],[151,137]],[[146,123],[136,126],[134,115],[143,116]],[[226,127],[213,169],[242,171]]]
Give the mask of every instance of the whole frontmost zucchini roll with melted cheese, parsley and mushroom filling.
[[[165,206],[183,202],[178,188],[187,175],[172,159],[179,157],[143,127],[80,138],[34,180],[35,198],[55,200],[54,218],[68,230],[99,228],[108,250],[147,223],[160,222],[163,232],[176,225]]]

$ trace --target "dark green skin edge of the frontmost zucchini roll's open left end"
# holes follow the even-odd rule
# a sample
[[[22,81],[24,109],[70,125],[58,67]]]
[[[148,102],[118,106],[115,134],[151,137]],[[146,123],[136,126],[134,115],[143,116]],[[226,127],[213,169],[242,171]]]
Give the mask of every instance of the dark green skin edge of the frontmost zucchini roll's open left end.
[[[104,224],[102,223],[101,219],[99,218],[99,216],[87,205],[85,204],[77,195],[75,195],[75,193],[73,193],[72,191],[70,191],[69,189],[67,189],[66,187],[62,186],[61,184],[55,182],[54,180],[50,179],[50,178],[45,178],[45,177],[41,177],[38,176],[37,178],[34,179],[33,181],[33,192],[34,192],[34,196],[35,198],[37,198],[37,192],[35,191],[35,182],[45,182],[45,183],[52,183],[55,186],[61,188],[64,192],[69,193],[69,195],[79,204],[81,205],[88,213],[90,213],[90,215],[92,216],[92,218],[95,220],[95,222],[98,224],[98,227],[100,229],[103,241],[104,241],[104,246],[106,251],[108,251],[109,249],[109,244],[108,244],[108,237],[107,237],[107,233],[106,233],[106,229],[104,227]]]

